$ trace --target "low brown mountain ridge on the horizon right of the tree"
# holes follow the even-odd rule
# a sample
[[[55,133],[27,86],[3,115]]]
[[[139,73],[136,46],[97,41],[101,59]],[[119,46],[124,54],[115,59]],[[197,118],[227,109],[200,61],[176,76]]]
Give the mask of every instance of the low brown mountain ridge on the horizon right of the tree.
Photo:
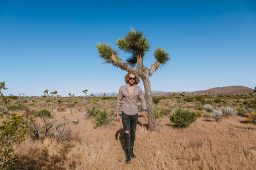
[[[215,87],[208,90],[200,90],[195,92],[186,92],[187,96],[192,95],[205,95],[205,94],[211,94],[211,95],[218,95],[218,94],[242,94],[242,93],[252,93],[253,89],[249,87],[244,86],[227,86],[227,87]],[[171,96],[173,93],[180,94],[182,92],[159,92],[159,93],[153,93],[153,96]]]

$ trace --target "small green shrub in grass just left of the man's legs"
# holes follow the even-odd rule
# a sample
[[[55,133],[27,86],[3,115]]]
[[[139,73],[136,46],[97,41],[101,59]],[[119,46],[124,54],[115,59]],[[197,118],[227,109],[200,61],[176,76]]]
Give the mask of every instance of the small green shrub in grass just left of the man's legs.
[[[100,125],[106,125],[109,124],[110,122],[113,122],[115,120],[115,116],[108,111],[98,111],[98,114],[96,115],[96,119],[93,122],[93,124],[96,127],[99,127]]]

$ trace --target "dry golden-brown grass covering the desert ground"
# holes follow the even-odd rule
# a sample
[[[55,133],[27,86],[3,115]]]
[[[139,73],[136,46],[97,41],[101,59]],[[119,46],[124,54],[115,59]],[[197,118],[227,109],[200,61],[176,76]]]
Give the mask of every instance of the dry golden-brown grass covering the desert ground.
[[[70,141],[28,138],[17,145],[15,153],[20,161],[17,169],[256,169],[256,126],[236,114],[220,122],[200,117],[184,129],[173,127],[170,115],[163,115],[157,119],[154,132],[147,130],[147,119],[140,117],[134,145],[136,158],[125,164],[122,122],[95,129],[94,118],[86,113],[92,106],[113,112],[114,100],[87,105],[80,101],[74,106],[63,104],[61,111],[56,109],[57,103],[30,100],[26,103],[28,110],[46,108],[52,113],[51,119],[65,122],[77,118],[79,123],[68,125],[72,131]],[[195,103],[181,105],[195,110]],[[231,101],[227,105],[238,107]],[[177,101],[162,99],[157,106],[172,110]]]

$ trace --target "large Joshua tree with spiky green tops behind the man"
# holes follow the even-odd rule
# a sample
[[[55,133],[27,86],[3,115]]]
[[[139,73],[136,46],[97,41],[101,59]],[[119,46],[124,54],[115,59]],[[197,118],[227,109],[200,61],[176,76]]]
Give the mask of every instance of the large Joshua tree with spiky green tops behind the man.
[[[140,76],[143,81],[145,99],[148,106],[148,129],[154,131],[156,118],[154,115],[149,76],[152,76],[154,71],[157,71],[160,66],[163,66],[170,60],[169,54],[163,48],[156,48],[154,51],[156,62],[154,62],[150,68],[145,67],[143,65],[143,58],[150,48],[149,42],[147,38],[143,36],[143,32],[134,31],[132,28],[125,38],[118,38],[116,45],[120,50],[131,54],[131,57],[129,57],[126,62],[118,57],[117,51],[113,50],[108,44],[97,44],[99,55],[106,61],[105,63],[113,64],[128,72],[135,72]],[[136,69],[134,68],[135,66]]]

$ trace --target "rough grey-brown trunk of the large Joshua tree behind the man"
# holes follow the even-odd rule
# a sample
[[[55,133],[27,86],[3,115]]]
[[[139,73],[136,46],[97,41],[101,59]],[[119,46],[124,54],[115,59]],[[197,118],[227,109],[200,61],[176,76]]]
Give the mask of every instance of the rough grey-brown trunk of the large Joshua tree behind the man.
[[[154,131],[156,126],[156,118],[154,114],[154,107],[152,101],[151,87],[149,77],[141,76],[141,80],[143,81],[144,89],[145,89],[145,100],[148,106],[148,130]]]

